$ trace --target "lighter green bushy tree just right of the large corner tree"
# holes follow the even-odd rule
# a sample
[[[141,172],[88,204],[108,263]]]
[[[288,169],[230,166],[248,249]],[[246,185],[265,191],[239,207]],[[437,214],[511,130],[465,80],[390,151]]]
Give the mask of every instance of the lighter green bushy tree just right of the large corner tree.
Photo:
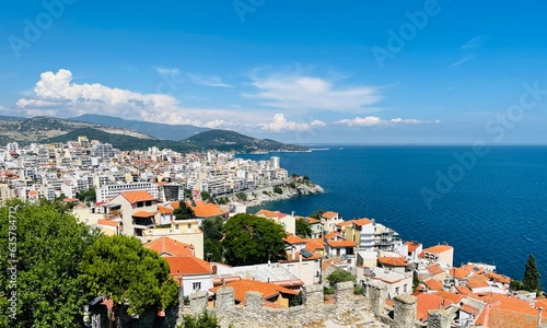
[[[120,305],[138,315],[165,309],[177,301],[178,288],[167,261],[136,237],[101,236],[84,253],[80,269],[90,296],[113,300],[114,320]]]

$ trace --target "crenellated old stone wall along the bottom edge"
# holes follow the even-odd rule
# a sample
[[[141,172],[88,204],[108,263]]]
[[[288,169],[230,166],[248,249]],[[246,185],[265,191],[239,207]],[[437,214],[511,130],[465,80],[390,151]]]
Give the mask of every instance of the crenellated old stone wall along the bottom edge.
[[[219,318],[223,328],[263,327],[370,327],[386,328],[371,312],[364,297],[353,295],[353,284],[338,283],[335,286],[335,303],[325,304],[322,285],[309,285],[303,291],[304,305],[288,308],[264,306],[263,295],[247,292],[245,306],[234,305],[234,293],[230,286],[217,292],[216,307],[208,307]],[[205,306],[199,295],[190,296],[193,313],[201,312]],[[198,302],[193,305],[193,302]]]

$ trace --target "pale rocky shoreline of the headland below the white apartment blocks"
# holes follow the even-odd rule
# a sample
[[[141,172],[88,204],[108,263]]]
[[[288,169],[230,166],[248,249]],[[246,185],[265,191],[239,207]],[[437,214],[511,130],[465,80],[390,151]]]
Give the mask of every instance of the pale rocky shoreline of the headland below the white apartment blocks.
[[[280,192],[279,192],[280,191]],[[244,191],[247,199],[242,201],[247,207],[257,207],[265,202],[290,199],[299,196],[315,195],[325,192],[319,185],[315,185],[307,179],[293,179],[287,184],[276,187],[260,188],[259,190]]]

